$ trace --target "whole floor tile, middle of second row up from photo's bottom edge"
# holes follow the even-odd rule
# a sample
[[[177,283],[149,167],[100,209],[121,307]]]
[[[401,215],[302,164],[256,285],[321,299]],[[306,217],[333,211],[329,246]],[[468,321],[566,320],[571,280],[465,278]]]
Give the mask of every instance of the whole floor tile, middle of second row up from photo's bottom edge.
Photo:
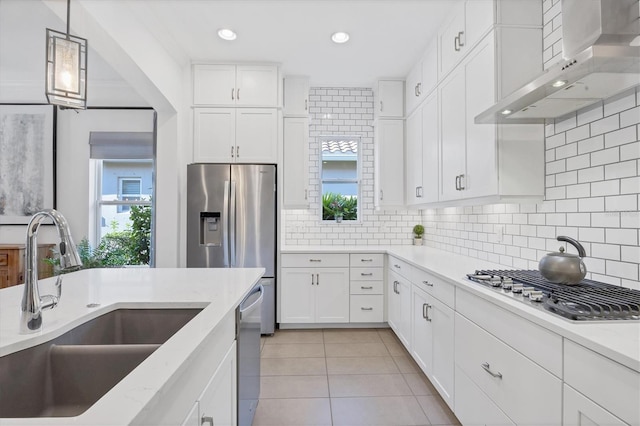
[[[402,374],[346,374],[329,376],[329,395],[342,398],[408,396],[412,393]]]

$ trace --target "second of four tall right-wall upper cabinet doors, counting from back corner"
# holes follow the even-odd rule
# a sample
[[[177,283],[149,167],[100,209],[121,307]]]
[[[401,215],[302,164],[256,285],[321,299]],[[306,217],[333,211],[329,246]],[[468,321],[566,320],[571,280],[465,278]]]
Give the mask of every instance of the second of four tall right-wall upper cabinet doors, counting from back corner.
[[[435,203],[439,199],[440,135],[438,133],[438,91],[422,104],[422,202]],[[420,157],[418,157],[420,158]]]

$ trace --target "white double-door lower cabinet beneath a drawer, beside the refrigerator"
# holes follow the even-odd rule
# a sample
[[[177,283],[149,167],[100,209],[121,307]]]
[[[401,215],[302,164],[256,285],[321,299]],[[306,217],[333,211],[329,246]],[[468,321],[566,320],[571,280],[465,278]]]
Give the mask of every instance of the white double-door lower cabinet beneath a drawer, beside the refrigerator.
[[[282,268],[280,322],[349,322],[349,268]]]

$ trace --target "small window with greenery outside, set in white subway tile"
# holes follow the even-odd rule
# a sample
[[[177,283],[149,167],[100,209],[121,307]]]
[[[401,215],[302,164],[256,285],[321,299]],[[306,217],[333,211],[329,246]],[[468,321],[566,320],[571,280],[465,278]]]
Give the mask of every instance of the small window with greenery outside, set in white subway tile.
[[[322,220],[358,220],[360,137],[321,136]]]

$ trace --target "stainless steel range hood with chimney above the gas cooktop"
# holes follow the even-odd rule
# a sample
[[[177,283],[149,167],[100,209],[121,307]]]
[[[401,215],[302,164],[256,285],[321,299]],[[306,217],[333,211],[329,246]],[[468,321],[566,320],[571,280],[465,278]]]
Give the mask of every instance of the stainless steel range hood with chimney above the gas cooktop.
[[[640,85],[639,15],[638,0],[562,0],[564,60],[475,122],[544,123]]]

